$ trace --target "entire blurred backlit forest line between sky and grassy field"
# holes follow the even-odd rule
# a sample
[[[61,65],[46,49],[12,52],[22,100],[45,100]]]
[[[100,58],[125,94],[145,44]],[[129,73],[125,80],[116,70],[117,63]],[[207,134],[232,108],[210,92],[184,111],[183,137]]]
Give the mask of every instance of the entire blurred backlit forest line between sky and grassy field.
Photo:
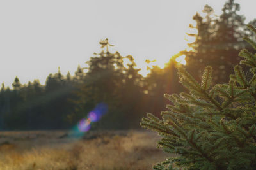
[[[252,50],[242,39],[252,36],[246,28],[248,23],[237,14],[239,4],[233,0],[225,3],[220,16],[211,6],[202,10],[203,15],[193,16],[196,25],[189,25],[196,30],[195,34],[188,32],[195,41],[166,61],[163,69],[148,67],[150,73],[146,77],[138,73],[140,69],[131,55],[109,52],[111,39],[109,43],[106,39],[100,41],[102,52],[86,62],[87,68],[78,66],[74,76],[63,75],[59,69],[58,73],[49,74],[45,85],[38,80],[21,84],[17,77],[12,88],[3,83],[0,129],[69,129],[99,103],[107,104],[108,113],[92,124],[93,129],[136,129],[146,113],[160,115],[165,110],[168,101],[163,94],[184,91],[175,69],[179,64],[175,59],[182,55],[186,55],[184,67],[196,78],[200,78],[206,65],[211,65],[215,83],[227,82],[232,66],[240,60],[239,50]],[[256,20],[250,24],[256,26]]]

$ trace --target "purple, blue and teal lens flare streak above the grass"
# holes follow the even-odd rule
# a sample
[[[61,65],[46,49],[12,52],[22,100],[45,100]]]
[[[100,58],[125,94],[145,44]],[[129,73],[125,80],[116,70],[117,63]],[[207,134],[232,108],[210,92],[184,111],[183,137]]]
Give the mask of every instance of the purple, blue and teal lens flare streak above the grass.
[[[87,132],[90,130],[92,122],[98,122],[102,115],[106,114],[108,111],[108,106],[104,103],[99,103],[94,108],[94,110],[88,113],[87,118],[79,120],[77,123],[77,130],[79,132]]]

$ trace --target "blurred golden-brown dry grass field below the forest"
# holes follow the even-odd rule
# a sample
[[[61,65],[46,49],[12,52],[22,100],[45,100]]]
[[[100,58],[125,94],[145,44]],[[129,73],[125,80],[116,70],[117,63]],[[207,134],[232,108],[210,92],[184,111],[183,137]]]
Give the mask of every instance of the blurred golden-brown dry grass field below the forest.
[[[152,169],[167,155],[149,131],[0,132],[0,169]]]

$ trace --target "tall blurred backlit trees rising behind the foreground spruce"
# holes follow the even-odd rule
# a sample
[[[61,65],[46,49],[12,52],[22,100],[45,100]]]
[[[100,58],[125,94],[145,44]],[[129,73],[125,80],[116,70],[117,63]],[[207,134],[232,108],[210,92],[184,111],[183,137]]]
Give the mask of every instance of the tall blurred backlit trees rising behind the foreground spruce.
[[[205,17],[196,13],[193,17],[196,26],[190,27],[198,33],[188,34],[195,37],[195,41],[188,44],[191,50],[180,52],[186,55],[187,69],[195,76],[202,74],[205,64],[210,64],[214,69],[213,78],[216,83],[228,80],[232,67],[241,60],[237,54],[246,46],[242,41],[246,33],[245,18],[237,14],[239,4],[228,0],[222,11],[220,16],[216,16],[213,9],[206,5],[203,10]]]

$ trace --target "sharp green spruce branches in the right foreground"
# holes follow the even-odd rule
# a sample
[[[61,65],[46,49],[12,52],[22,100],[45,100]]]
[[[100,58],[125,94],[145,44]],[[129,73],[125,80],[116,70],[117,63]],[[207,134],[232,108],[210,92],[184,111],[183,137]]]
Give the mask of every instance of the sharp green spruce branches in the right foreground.
[[[256,49],[255,41],[244,39]],[[252,76],[237,65],[226,84],[211,85],[210,66],[201,83],[179,67],[180,83],[189,93],[165,94],[173,103],[167,105],[169,111],[161,113],[162,119],[148,113],[141,122],[141,127],[159,132],[158,146],[164,152],[177,153],[154,169],[175,169],[173,164],[184,169],[255,169],[256,53],[244,49],[239,56]]]

